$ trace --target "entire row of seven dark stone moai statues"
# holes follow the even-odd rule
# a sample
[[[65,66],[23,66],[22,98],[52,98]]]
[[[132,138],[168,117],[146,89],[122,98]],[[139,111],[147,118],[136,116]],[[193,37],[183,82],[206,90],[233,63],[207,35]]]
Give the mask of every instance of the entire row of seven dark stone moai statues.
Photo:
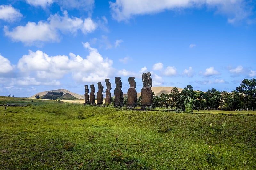
[[[153,106],[153,92],[151,90],[152,87],[152,79],[151,79],[151,73],[143,73],[142,74],[142,82],[143,82],[143,88],[141,89],[141,108],[145,109],[146,107],[152,107]],[[105,80],[107,89],[105,91],[106,93],[106,98],[105,98],[105,105],[108,105],[112,102],[112,96],[110,90],[111,88],[111,83],[109,79]],[[134,77],[129,77],[128,82],[130,84],[130,88],[128,89],[127,96],[128,96],[128,102],[127,102],[127,107],[128,108],[134,108],[137,107],[137,92],[136,92],[136,82]],[[116,83],[116,88],[114,90],[114,95],[115,95],[115,102],[114,106],[122,106],[124,97],[123,97],[123,92],[122,92],[122,81],[121,77],[115,77],[115,83]],[[90,85],[91,92],[89,95],[89,89],[88,85],[85,85],[85,93],[84,93],[84,104],[91,104],[95,105],[95,87],[94,85]],[[98,82],[98,92],[97,92],[97,105],[102,105],[103,104],[103,86],[101,82]]]

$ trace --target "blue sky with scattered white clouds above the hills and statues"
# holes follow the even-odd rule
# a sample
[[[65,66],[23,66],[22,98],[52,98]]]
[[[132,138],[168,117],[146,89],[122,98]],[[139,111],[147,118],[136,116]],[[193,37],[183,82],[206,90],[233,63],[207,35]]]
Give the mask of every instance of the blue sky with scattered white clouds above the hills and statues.
[[[254,0],[1,0],[0,95],[142,73],[153,86],[231,92],[256,77]]]

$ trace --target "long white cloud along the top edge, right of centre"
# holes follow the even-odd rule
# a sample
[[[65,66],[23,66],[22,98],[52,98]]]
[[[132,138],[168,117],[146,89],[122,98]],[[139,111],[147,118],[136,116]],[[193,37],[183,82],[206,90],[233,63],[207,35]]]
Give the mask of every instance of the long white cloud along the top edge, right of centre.
[[[109,4],[112,17],[118,21],[128,20],[134,15],[207,6],[216,10],[216,13],[227,16],[229,23],[234,23],[247,19],[252,15],[253,9],[250,8],[249,2],[245,0],[116,0],[116,2],[109,2]]]

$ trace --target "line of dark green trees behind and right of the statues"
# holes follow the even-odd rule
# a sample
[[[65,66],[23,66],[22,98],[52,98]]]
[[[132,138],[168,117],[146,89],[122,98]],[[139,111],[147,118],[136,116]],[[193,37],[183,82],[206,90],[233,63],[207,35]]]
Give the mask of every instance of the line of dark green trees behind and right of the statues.
[[[252,110],[256,108],[256,80],[255,78],[244,79],[239,87],[232,92],[218,91],[214,88],[203,91],[194,91],[191,85],[187,85],[181,92],[174,87],[170,94],[153,95],[153,107],[164,107],[169,109],[184,109],[184,101],[188,98],[196,99],[195,107],[198,109],[217,108],[245,108]],[[124,105],[127,97],[124,98]],[[141,97],[138,98],[140,106]]]

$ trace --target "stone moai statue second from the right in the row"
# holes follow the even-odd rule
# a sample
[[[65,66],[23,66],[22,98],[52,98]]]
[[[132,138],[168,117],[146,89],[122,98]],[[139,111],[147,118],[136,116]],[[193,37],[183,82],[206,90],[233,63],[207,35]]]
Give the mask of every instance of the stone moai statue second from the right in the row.
[[[137,106],[137,92],[136,92],[136,82],[135,77],[129,77],[128,82],[130,84],[130,88],[128,89],[128,103],[127,108],[134,108]]]

